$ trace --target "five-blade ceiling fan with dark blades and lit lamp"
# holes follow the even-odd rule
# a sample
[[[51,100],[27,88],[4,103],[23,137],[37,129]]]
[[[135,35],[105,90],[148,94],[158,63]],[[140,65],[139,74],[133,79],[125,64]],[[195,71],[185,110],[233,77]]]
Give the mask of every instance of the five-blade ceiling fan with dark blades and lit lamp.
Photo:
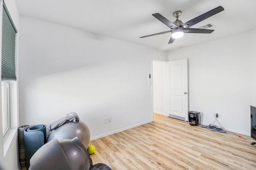
[[[168,26],[171,30],[170,31],[164,31],[164,32],[160,32],[160,33],[154,33],[151,35],[146,35],[140,38],[145,38],[145,37],[150,37],[153,35],[160,35],[160,34],[164,34],[164,33],[172,33],[171,38],[169,40],[169,43],[173,43],[173,41],[176,38],[180,38],[183,36],[184,33],[212,33],[214,30],[213,29],[198,29],[198,28],[190,28],[192,25],[195,25],[196,23],[203,21],[215,14],[218,14],[219,12],[222,12],[224,10],[224,8],[222,6],[218,6],[217,8],[214,8],[190,21],[187,21],[185,23],[183,23],[182,21],[179,20],[179,16],[181,15],[181,11],[176,11],[173,13],[173,16],[176,18],[176,21],[174,21],[173,23],[169,20],[167,20],[166,18],[164,18],[164,16],[162,16],[159,13],[156,14],[152,14],[152,16],[154,16],[156,19],[158,19],[159,21],[161,21],[162,23],[164,23],[166,26]]]

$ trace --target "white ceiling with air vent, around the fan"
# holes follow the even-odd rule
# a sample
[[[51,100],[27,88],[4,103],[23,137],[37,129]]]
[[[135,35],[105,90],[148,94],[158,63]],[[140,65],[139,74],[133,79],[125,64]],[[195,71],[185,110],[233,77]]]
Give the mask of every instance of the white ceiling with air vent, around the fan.
[[[145,45],[164,51],[176,50],[256,29],[256,0],[16,0],[21,16],[82,29],[84,31]],[[160,13],[175,21],[180,10],[184,23],[213,8],[225,10],[193,25],[215,25],[211,34],[184,34],[168,44],[170,33],[139,38],[170,30],[152,16]],[[239,39],[237,43],[240,42]]]

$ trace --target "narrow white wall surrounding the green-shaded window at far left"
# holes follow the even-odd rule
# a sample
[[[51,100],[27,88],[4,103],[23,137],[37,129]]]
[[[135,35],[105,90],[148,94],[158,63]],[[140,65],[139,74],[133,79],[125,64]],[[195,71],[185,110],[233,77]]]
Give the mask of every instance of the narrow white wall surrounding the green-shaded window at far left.
[[[15,0],[6,0],[5,4],[8,8],[8,11],[10,13],[10,16],[14,22],[14,25],[18,31],[16,42],[17,42],[17,48],[19,47],[19,21],[20,16],[18,14],[18,9],[16,7]],[[3,1],[0,1],[0,30],[2,30],[2,6]],[[1,34],[2,35],[2,34]],[[0,44],[2,44],[2,38],[0,38]],[[0,49],[1,50],[1,49]],[[1,51],[0,51],[1,53]],[[18,64],[18,57],[19,52],[18,49],[16,51],[16,57]],[[2,138],[2,113],[0,113],[0,170],[17,170],[19,168],[18,166],[18,133],[17,133],[17,127],[18,127],[18,115],[17,115],[17,101],[15,99],[17,98],[18,91],[17,91],[18,81],[11,83],[11,130],[9,133],[5,136],[4,140]],[[2,90],[0,90],[0,96],[1,96]],[[15,92],[13,94],[13,92]],[[0,98],[0,111],[2,111],[1,106],[1,98]]]

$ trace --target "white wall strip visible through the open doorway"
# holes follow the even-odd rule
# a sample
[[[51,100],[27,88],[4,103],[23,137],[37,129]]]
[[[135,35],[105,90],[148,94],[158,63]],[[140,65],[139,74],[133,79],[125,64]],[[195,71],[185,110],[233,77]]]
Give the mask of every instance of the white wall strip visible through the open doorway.
[[[166,115],[166,70],[165,62],[153,62],[154,113]]]

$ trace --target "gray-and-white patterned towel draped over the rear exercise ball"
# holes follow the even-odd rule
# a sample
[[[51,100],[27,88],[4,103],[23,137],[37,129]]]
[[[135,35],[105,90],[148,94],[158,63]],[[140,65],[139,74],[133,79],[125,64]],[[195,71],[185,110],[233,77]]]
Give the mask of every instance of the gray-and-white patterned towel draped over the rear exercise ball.
[[[70,121],[73,121],[73,122],[79,121],[79,117],[75,112],[68,113],[66,114],[65,117],[54,121],[52,124],[50,124],[50,126],[48,127],[48,130],[52,131],[53,129],[56,129],[57,127],[63,125],[64,123],[68,123]]]

